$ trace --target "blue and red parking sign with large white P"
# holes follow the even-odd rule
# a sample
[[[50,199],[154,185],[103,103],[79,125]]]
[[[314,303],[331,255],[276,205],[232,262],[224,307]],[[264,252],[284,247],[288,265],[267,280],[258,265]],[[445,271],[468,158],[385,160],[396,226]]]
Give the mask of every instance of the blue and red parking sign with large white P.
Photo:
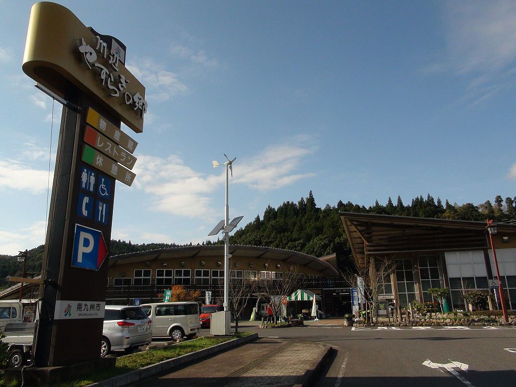
[[[107,248],[102,231],[75,224],[72,267],[99,270],[106,256]]]

